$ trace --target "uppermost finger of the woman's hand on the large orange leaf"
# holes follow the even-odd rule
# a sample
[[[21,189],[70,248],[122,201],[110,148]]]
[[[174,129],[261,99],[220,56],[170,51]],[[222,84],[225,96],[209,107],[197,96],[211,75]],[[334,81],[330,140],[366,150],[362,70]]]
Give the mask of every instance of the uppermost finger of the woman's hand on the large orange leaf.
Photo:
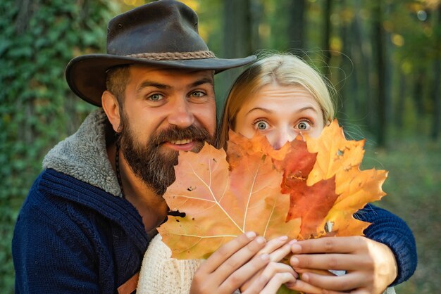
[[[211,274],[218,269],[221,264],[228,260],[234,253],[249,244],[256,238],[256,233],[250,231],[236,238],[232,239],[228,243],[225,243],[218,250],[216,250],[203,264],[199,267],[200,271],[204,271],[207,274]]]

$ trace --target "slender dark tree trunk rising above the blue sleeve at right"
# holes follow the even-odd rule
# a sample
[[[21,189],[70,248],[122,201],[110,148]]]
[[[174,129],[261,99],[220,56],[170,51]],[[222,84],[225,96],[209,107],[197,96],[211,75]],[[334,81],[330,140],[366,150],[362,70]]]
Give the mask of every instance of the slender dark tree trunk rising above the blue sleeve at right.
[[[377,144],[379,147],[386,146],[386,89],[385,89],[385,32],[383,29],[383,10],[381,7],[381,0],[375,2],[373,8],[373,36],[375,38],[375,59],[377,65],[377,123],[375,127]]]

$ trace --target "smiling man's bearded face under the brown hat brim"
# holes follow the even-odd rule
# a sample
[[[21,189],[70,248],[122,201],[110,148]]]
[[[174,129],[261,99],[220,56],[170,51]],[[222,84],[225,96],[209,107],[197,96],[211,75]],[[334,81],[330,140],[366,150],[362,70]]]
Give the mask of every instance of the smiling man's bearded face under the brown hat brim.
[[[162,195],[175,180],[178,151],[213,143],[213,72],[130,66],[120,145],[133,172]]]

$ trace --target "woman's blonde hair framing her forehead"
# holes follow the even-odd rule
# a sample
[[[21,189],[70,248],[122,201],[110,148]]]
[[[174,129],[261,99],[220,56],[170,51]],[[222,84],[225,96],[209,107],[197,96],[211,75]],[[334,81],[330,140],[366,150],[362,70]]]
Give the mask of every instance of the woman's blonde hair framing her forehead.
[[[253,63],[237,77],[225,101],[225,108],[219,126],[217,146],[225,148],[228,131],[235,128],[236,115],[251,97],[267,84],[280,86],[299,85],[304,87],[323,112],[323,121],[331,122],[334,118],[334,104],[326,82],[317,70],[314,70],[301,58],[290,53],[273,53]],[[329,89],[328,89],[329,87]]]

